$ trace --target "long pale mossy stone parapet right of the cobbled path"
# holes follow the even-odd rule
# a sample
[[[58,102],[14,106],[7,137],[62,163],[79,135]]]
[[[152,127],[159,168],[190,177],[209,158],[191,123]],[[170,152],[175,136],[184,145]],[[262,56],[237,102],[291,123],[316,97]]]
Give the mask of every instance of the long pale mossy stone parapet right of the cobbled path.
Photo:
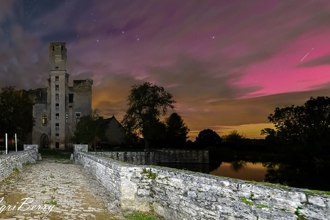
[[[155,166],[130,165],[75,149],[121,208],[171,220],[329,220],[330,195]]]

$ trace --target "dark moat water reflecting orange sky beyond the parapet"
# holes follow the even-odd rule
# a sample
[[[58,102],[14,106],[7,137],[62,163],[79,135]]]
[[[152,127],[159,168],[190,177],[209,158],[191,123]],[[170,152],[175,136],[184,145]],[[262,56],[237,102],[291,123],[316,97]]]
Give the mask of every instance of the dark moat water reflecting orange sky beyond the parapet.
[[[280,183],[283,185],[330,191],[327,179],[329,163],[276,163],[233,160],[216,164],[158,164],[216,176],[247,181]]]

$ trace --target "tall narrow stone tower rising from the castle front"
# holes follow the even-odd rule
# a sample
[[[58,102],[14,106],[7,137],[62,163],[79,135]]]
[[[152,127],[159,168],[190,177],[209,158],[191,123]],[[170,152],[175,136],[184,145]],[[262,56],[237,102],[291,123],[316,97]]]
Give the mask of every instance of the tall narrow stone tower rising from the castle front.
[[[66,73],[65,42],[50,43],[50,149],[65,148],[65,104],[68,97],[69,74]]]

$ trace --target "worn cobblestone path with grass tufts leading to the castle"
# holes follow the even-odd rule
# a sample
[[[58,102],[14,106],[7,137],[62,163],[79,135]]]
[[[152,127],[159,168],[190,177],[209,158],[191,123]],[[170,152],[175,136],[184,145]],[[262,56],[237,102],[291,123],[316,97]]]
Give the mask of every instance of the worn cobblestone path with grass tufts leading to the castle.
[[[0,200],[2,197],[0,208],[19,206],[21,199],[27,197],[34,200],[30,207],[56,206],[47,216],[47,210],[4,210],[0,213],[0,220],[124,219],[120,214],[108,211],[107,206],[114,198],[98,181],[83,173],[82,166],[64,159],[43,159],[23,166],[23,171],[0,182]]]

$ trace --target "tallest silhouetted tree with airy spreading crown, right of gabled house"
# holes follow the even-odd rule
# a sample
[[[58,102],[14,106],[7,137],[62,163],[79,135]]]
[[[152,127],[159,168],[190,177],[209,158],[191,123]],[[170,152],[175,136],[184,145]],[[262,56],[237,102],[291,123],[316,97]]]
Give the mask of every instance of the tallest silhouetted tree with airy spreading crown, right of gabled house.
[[[174,109],[174,101],[170,93],[163,87],[145,82],[143,85],[131,86],[127,98],[128,109],[121,121],[127,132],[143,135],[145,147],[149,148],[152,138],[152,127],[159,120],[161,114],[166,115],[168,108]]]

